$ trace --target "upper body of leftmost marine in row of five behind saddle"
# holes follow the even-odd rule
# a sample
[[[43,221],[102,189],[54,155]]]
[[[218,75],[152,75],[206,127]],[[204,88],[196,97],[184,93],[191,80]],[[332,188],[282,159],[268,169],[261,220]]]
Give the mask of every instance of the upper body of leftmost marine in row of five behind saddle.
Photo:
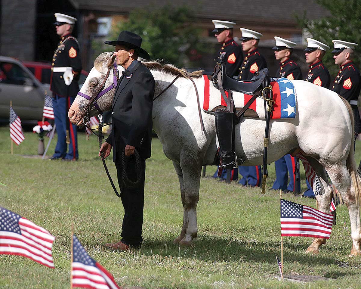
[[[238,69],[243,60],[242,48],[233,39],[233,25],[236,23],[230,21],[212,20],[214,29],[212,34],[217,41],[222,44],[221,48],[214,57],[214,65],[220,62],[221,55],[226,63],[226,72],[230,77],[237,76]]]

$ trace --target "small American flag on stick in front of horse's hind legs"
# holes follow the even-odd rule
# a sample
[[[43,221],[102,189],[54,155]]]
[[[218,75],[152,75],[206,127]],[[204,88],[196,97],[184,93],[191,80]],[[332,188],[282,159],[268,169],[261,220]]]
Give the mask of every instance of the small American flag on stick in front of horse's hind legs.
[[[281,236],[328,239],[334,216],[281,199]]]

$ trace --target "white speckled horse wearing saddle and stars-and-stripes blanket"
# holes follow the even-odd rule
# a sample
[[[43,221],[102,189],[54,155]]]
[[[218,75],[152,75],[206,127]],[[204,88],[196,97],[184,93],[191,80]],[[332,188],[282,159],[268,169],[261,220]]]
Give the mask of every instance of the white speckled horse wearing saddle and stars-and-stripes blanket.
[[[114,58],[109,53],[97,57],[81,89],[83,94],[93,96],[104,81],[105,74]],[[199,197],[201,168],[211,165],[216,155],[216,130],[213,115],[202,112],[204,133],[198,116],[195,88],[185,78],[186,70],[158,62],[143,62],[155,78],[155,95],[158,95],[180,75],[153,103],[153,129],[163,146],[165,155],[173,161],[178,174],[183,203],[183,226],[181,234],[174,240],[180,245],[191,245],[197,236],[196,207]],[[111,68],[113,69],[113,68]],[[118,68],[123,71],[122,67]],[[112,72],[105,82],[113,82]],[[204,80],[199,72],[188,74],[203,95]],[[268,163],[282,156],[301,150],[319,177],[323,190],[317,195],[319,210],[329,212],[333,196],[326,171],[337,188],[340,197],[349,210],[353,246],[351,255],[361,255],[361,225],[359,201],[361,196],[360,178],[356,171],[353,151],[353,113],[351,106],[335,92],[312,83],[292,81],[296,95],[296,118],[271,120],[268,143]],[[102,111],[111,108],[115,90],[101,96],[98,105]],[[210,97],[219,91],[210,86]],[[234,93],[234,98],[237,93]],[[200,100],[201,107],[203,100]],[[81,125],[86,113],[88,100],[77,96],[68,115],[74,124]],[[92,115],[96,115],[92,108]],[[263,158],[265,120],[245,118],[236,126],[235,152],[247,156],[243,165],[260,165]],[[318,253],[325,239],[314,238],[306,250]]]

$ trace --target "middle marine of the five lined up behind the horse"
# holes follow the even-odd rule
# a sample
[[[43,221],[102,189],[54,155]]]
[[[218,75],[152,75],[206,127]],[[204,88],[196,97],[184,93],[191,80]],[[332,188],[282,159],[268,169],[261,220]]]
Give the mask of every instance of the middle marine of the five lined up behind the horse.
[[[276,77],[285,77],[289,80],[302,79],[301,69],[295,61],[290,59],[293,47],[295,47],[297,43],[280,38],[278,36],[274,36],[274,39],[276,40],[276,46],[274,46],[272,49],[274,50],[276,60],[280,61],[280,67],[277,70]],[[274,164],[276,167],[276,180],[274,181],[272,189],[294,191],[296,183],[296,158],[292,157],[291,155],[285,155],[279,160],[275,161]],[[287,171],[290,174],[290,183],[288,186]],[[297,181],[296,185],[298,191],[300,191],[300,180]]]

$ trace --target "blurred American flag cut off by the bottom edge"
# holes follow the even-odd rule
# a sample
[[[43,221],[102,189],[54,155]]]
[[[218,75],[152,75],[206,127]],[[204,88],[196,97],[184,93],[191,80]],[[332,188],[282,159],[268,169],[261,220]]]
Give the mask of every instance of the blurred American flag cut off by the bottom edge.
[[[73,287],[119,289],[114,277],[88,255],[75,235],[73,235],[71,281]]]

